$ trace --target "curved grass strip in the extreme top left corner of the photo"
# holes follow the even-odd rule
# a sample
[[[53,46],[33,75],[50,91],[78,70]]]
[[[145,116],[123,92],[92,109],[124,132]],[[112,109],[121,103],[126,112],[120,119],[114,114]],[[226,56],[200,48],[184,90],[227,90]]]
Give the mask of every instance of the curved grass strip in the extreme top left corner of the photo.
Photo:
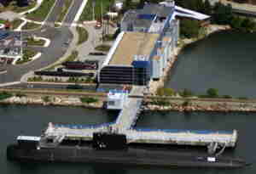
[[[36,6],[36,4],[37,4],[36,1],[32,1],[32,3],[30,3],[26,7],[18,7],[16,2],[13,1],[13,2],[9,3],[9,6],[7,6],[7,7],[0,7],[0,12],[13,11],[15,13],[20,13],[20,12],[24,12],[28,9],[34,8]]]

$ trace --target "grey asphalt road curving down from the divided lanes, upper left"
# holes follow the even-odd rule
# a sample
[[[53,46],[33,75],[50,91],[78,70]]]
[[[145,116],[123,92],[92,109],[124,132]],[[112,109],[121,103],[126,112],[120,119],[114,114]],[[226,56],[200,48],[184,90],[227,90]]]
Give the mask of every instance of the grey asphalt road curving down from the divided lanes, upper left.
[[[77,13],[82,0],[74,0],[73,6],[70,8],[69,13],[66,16],[67,22],[74,20],[75,14]],[[46,19],[46,25],[43,25],[40,29],[35,31],[22,31],[23,36],[43,36],[51,40],[48,48],[36,48],[42,53],[39,59],[36,59],[29,64],[25,65],[7,65],[7,73],[0,74],[0,84],[20,81],[21,76],[25,75],[31,70],[38,70],[44,68],[47,65],[53,64],[57,59],[61,58],[67,51],[67,45],[64,43],[73,39],[73,34],[67,26],[60,28],[54,28],[49,24],[54,24],[57,15],[61,12],[63,6],[63,0],[56,0],[55,7],[50,11]]]

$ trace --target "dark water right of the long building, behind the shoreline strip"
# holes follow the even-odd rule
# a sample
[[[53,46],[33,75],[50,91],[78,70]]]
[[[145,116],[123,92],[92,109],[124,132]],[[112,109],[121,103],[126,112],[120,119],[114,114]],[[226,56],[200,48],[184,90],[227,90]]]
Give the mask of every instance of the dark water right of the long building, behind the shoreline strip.
[[[175,90],[256,98],[256,33],[221,31],[188,45],[178,55],[166,81]]]

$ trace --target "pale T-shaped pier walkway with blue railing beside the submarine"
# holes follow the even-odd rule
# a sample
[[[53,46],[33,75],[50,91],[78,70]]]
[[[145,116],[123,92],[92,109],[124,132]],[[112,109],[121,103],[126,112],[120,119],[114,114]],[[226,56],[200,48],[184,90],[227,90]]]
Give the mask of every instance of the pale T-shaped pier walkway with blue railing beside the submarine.
[[[145,87],[133,87],[129,96],[143,96]],[[46,137],[54,138],[56,143],[64,138],[92,139],[93,132],[118,132],[126,135],[127,143],[161,143],[177,145],[207,146],[212,143],[222,147],[235,147],[237,132],[233,131],[195,131],[177,129],[134,128],[143,98],[129,97],[116,121],[100,125],[61,125],[51,124],[44,132]],[[111,129],[110,129],[111,127]]]

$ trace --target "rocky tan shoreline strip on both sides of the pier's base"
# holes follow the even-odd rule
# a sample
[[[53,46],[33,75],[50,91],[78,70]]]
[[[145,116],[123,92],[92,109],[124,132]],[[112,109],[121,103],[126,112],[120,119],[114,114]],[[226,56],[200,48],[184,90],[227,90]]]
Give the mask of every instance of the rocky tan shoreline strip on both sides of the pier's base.
[[[50,96],[49,101],[44,101],[44,96],[26,96],[26,97],[11,97],[0,101],[1,104],[41,104],[54,106],[75,106],[90,109],[104,109],[106,99],[97,98],[94,103],[82,103],[77,96]],[[193,98],[172,98],[165,99],[167,104],[155,104],[154,99],[145,98],[143,100],[143,110],[145,111],[214,111],[214,112],[256,112],[256,102],[250,101],[216,101],[211,98],[193,99]],[[160,100],[158,100],[160,101]]]

